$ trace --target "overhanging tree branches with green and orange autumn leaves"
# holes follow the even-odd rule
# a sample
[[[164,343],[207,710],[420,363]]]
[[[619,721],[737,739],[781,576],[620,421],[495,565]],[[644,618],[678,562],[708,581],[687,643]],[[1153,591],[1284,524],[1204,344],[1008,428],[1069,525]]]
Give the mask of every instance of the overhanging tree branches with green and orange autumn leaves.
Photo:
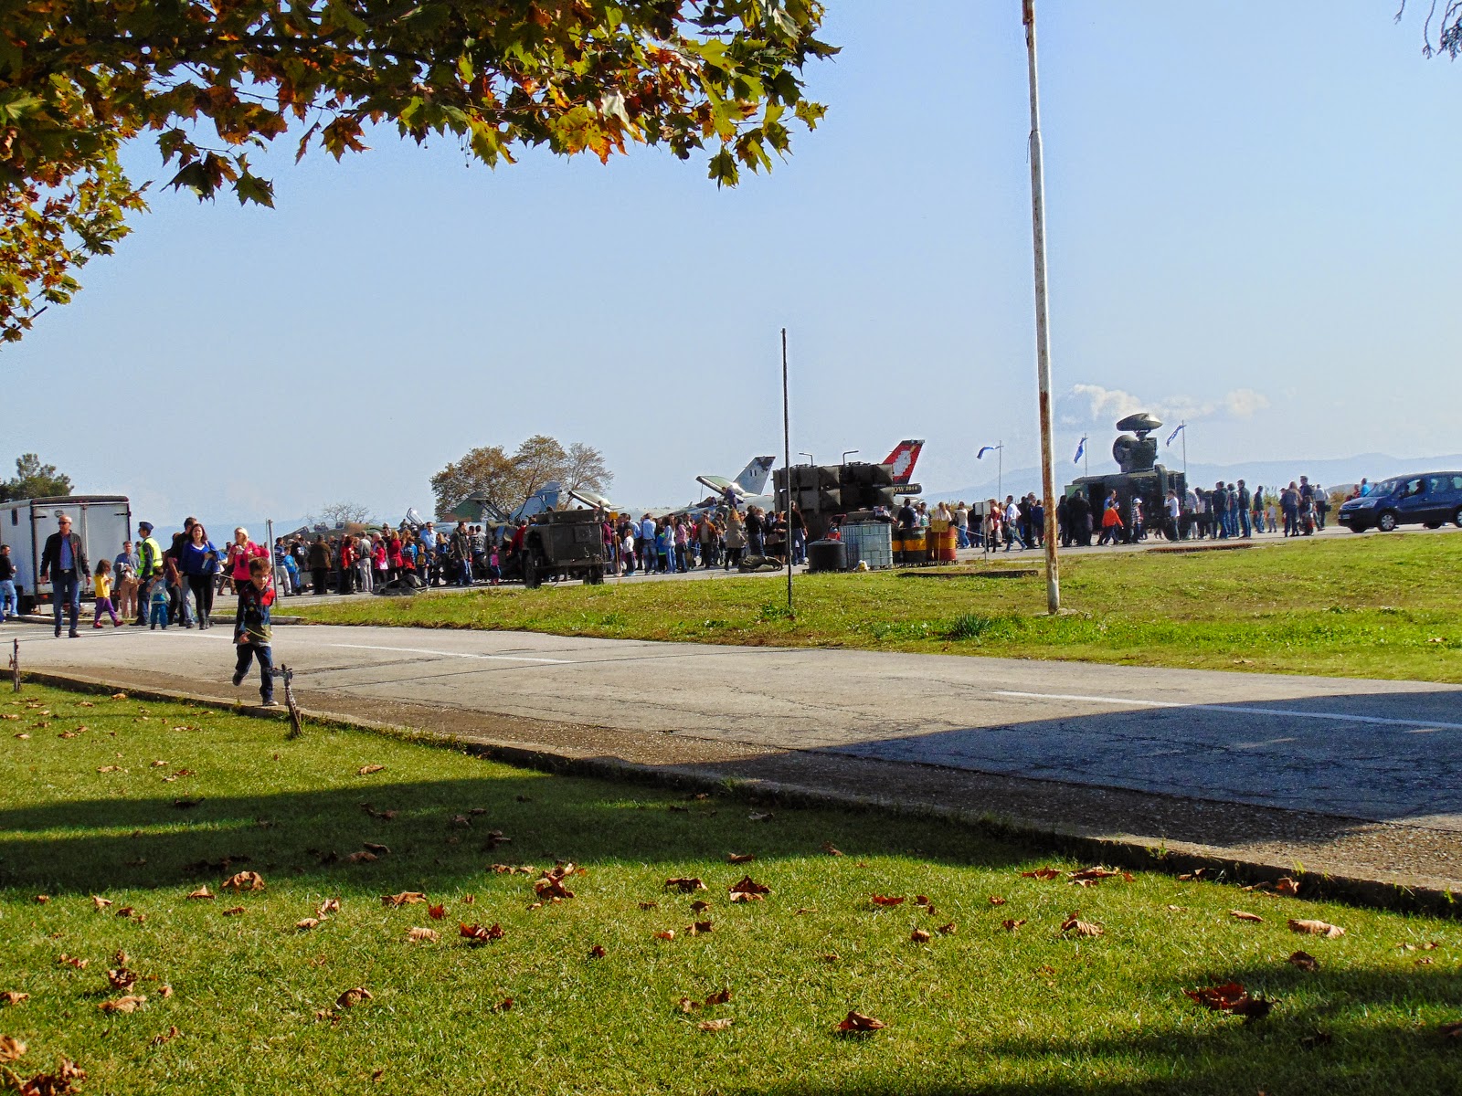
[[[822,118],[800,79],[836,53],[822,18],[820,0],[0,0],[0,338],[127,232],[142,191],[117,152],[143,130],[170,186],[266,206],[253,149],[295,129],[300,156],[339,159],[385,123],[488,165],[706,149],[734,184],[789,151],[792,118]]]

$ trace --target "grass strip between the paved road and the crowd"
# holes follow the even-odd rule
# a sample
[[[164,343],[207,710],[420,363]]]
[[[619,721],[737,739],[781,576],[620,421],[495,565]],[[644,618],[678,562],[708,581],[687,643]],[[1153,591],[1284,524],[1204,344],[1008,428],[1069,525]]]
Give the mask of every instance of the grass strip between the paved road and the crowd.
[[[1045,580],[814,574],[288,602],[333,624],[846,646],[1145,666],[1462,681],[1462,535],[1357,536],[1192,555],[1069,554]],[[1029,564],[1025,564],[1029,566]]]

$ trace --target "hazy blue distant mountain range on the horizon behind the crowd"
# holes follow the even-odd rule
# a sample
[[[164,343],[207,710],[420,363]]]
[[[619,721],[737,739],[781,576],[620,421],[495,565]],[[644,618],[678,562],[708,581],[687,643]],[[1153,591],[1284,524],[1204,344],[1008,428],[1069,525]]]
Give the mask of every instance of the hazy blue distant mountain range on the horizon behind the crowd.
[[[1183,468],[1181,462],[1170,462],[1164,459],[1161,463],[1171,471],[1181,471]],[[1462,469],[1462,453],[1434,457],[1393,457],[1386,453],[1361,453],[1360,456],[1335,457],[1330,460],[1251,460],[1241,465],[1203,465],[1194,460],[1189,463],[1187,473],[1189,482],[1199,487],[1212,487],[1219,479],[1225,484],[1234,484],[1243,479],[1253,488],[1260,485],[1285,487],[1291,479],[1298,482],[1301,475],[1310,476],[1311,484],[1320,484],[1322,487],[1339,487],[1342,484],[1358,484],[1361,476],[1374,482],[1377,479],[1406,475],[1409,472],[1440,472],[1452,469]],[[1091,463],[1092,475],[1114,475],[1116,472],[1117,465],[1111,460],[1092,460]],[[1072,465],[1070,460],[1057,459],[1056,490],[1060,491],[1080,475],[1085,475],[1080,465]],[[942,500],[955,501],[959,498],[963,498],[966,503],[972,503],[977,498],[994,498],[997,490],[1001,492],[1001,497],[1019,497],[1028,491],[1039,494],[1041,469],[1013,468],[1000,478],[999,488],[996,478],[991,476],[982,484],[972,484],[969,487],[961,487],[950,491],[925,491],[924,498],[931,503]]]

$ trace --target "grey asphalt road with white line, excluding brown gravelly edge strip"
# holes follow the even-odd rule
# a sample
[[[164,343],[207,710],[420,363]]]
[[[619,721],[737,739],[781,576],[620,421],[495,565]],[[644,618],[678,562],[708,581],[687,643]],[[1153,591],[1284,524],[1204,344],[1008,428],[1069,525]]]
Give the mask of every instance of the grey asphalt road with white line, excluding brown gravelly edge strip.
[[[230,685],[227,627],[12,634],[29,669],[257,697],[257,678]],[[412,704],[1462,830],[1452,685],[503,631],[275,640],[319,709]]]

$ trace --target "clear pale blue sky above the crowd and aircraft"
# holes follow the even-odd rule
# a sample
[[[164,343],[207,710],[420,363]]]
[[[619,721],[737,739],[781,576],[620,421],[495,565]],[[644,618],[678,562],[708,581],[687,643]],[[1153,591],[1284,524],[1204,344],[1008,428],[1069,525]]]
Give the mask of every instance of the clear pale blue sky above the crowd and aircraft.
[[[547,433],[602,449],[613,497],[684,503],[781,453],[785,326],[794,459],[924,437],[931,490],[996,440],[1037,463],[1020,6],[829,7],[826,121],[737,190],[656,151],[490,171],[382,132],[339,165],[285,139],[275,210],[155,191],[0,355],[0,459],[158,523],[396,519]],[[1462,450],[1462,70],[1395,7],[1041,0],[1058,462],[1091,433],[1096,471],[1139,408],[1209,463]]]

